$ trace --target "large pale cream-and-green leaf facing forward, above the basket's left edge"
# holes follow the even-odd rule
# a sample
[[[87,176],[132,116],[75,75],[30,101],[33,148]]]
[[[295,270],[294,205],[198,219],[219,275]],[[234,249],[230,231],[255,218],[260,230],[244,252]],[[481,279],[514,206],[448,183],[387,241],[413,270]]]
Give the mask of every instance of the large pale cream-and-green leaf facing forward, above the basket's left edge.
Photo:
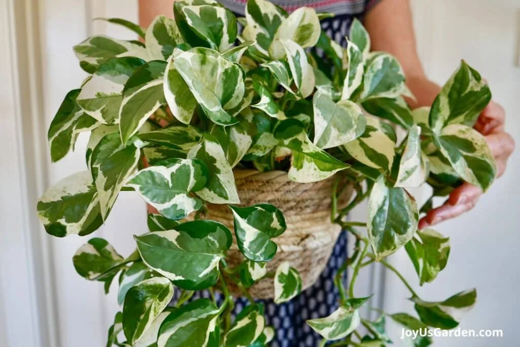
[[[244,71],[240,65],[202,47],[179,54],[173,65],[208,118],[219,125],[238,122],[226,110],[237,107],[244,98]]]

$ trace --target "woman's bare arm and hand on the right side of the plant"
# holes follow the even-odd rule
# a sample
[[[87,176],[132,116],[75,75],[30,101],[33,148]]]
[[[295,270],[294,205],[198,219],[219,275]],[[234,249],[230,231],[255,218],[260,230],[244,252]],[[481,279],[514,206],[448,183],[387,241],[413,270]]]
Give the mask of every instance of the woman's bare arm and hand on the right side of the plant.
[[[394,55],[405,71],[408,88],[415,100],[407,99],[412,109],[431,106],[441,87],[428,80],[421,66],[415,36],[409,0],[385,0],[375,6],[365,19],[365,26],[370,34],[372,49]],[[495,101],[480,114],[475,129],[484,135],[486,142],[497,162],[497,177],[506,168],[506,163],[514,150],[514,140],[504,131],[505,111]],[[482,189],[463,183],[451,191],[449,199],[442,206],[429,211],[421,219],[421,229],[452,219],[471,210],[477,203]]]

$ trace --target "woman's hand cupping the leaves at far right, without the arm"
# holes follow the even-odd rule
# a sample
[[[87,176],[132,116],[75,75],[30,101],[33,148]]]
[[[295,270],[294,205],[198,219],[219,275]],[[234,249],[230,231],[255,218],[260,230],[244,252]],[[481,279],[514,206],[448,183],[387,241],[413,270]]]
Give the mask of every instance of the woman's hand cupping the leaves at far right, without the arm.
[[[511,153],[515,149],[515,142],[511,135],[504,132],[505,111],[496,102],[490,104],[480,114],[475,129],[484,135],[486,142],[497,162],[497,177],[503,175]],[[457,217],[470,211],[482,195],[482,190],[469,183],[464,183],[454,189],[444,205],[431,210],[419,222],[423,229],[445,220]]]

